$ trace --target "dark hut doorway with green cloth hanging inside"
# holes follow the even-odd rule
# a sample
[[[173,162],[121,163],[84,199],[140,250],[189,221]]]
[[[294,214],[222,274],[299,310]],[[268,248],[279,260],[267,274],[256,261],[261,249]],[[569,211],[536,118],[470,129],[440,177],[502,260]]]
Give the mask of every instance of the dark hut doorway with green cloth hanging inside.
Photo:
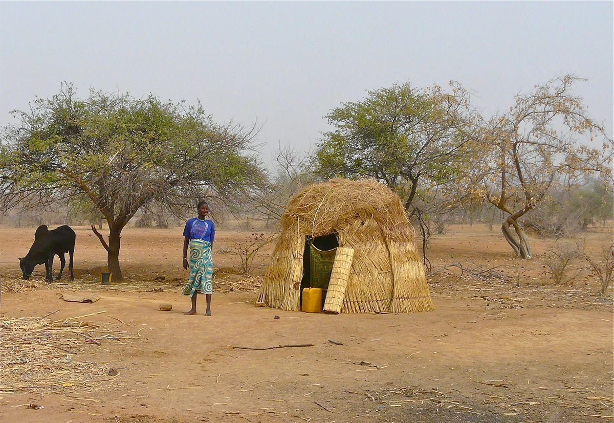
[[[303,278],[301,279],[300,300],[303,301],[304,288],[328,289],[330,274],[335,261],[335,251],[339,246],[337,233],[324,236],[305,237],[305,249],[303,250]],[[324,300],[325,295],[322,295]]]

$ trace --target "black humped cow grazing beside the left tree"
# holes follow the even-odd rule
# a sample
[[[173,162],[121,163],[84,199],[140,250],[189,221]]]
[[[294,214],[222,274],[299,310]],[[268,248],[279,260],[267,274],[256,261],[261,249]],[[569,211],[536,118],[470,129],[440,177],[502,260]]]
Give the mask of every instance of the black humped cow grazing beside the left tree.
[[[71,281],[74,280],[74,274],[72,274],[72,254],[75,250],[75,231],[69,226],[61,226],[54,230],[49,230],[47,225],[41,225],[36,229],[34,233],[34,244],[30,247],[26,257],[19,258],[19,266],[23,273],[23,279],[27,281],[32,275],[34,266],[45,265],[45,279],[47,281],[53,281],[52,268],[53,268],[53,256],[60,257],[60,273],[56,277],[56,281],[62,278],[62,271],[66,264],[66,258],[64,253],[68,252],[69,262],[68,268],[71,271]]]

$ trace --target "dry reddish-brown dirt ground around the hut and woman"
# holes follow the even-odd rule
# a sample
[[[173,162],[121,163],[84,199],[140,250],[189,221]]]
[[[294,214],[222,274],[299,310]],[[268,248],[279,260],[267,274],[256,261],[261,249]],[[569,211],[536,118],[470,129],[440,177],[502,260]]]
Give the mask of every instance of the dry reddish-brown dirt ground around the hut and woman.
[[[76,281],[65,274],[63,281],[46,284],[44,266],[37,266],[34,281],[19,280],[17,257],[26,254],[34,228],[0,228],[0,323],[49,315],[49,322],[60,325],[69,317],[100,312],[69,321],[130,336],[74,335],[79,351],[64,349],[65,359],[118,374],[99,378],[91,389],[71,384],[68,371],[52,385],[7,389],[16,382],[0,368],[0,421],[614,418],[612,297],[596,295],[597,279],[580,259],[570,265],[573,281],[551,284],[546,266],[553,240],[533,236],[535,258],[515,260],[497,228],[448,228],[429,250],[435,311],[332,316],[257,308],[257,292],[241,289],[258,278],[230,271],[239,267],[237,252],[249,243],[250,233],[219,231],[214,261],[222,270],[216,275],[213,316],[206,317],[182,314],[189,300],[179,295],[186,276],[181,228],[126,229],[121,256],[126,281],[111,287],[99,284],[106,255],[98,239],[88,228],[76,231]],[[612,243],[612,227],[585,236],[587,249],[597,254]],[[269,246],[257,256],[252,275],[263,274],[270,251]],[[55,272],[58,268],[56,260]],[[60,298],[75,292],[99,300]],[[173,310],[159,311],[161,303],[171,303]],[[199,311],[203,306],[199,301]],[[303,343],[314,346],[231,347]],[[57,371],[45,368],[45,362],[29,362],[27,352],[16,352],[7,339],[0,339],[0,351],[4,363],[15,355],[22,368]]]

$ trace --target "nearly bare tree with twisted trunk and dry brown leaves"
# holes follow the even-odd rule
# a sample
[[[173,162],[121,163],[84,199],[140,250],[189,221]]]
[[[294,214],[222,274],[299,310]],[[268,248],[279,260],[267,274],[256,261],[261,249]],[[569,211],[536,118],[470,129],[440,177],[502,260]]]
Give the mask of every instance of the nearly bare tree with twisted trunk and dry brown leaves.
[[[537,85],[517,95],[514,106],[486,123],[486,154],[476,163],[481,186],[475,192],[505,214],[501,230],[517,257],[530,258],[521,217],[547,199],[555,184],[568,185],[580,174],[611,174],[612,139],[588,115],[573,94],[573,75]],[[580,140],[597,141],[601,150]]]

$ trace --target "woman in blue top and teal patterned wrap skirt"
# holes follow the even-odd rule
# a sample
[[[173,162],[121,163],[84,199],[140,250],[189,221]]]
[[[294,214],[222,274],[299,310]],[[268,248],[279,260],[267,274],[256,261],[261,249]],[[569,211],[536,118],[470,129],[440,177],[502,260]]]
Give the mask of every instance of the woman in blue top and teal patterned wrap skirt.
[[[204,293],[207,298],[207,311],[204,314],[211,316],[211,294],[213,293],[211,251],[216,238],[216,225],[211,220],[205,219],[209,214],[209,205],[205,201],[198,203],[196,210],[198,210],[198,217],[193,217],[185,223],[183,266],[185,270],[190,268],[190,279],[185,284],[181,295],[192,297],[192,308],[184,314],[196,314],[196,295]],[[190,247],[189,256],[188,247]]]

